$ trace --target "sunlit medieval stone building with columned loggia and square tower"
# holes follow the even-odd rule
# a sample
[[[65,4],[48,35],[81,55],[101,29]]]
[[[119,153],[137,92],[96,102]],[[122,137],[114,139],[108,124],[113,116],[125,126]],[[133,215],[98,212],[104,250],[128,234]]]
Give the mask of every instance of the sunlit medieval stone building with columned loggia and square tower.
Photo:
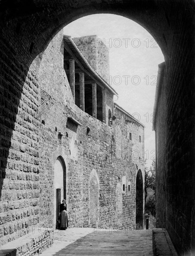
[[[63,198],[69,227],[143,226],[144,126],[114,103],[94,39],[59,32],[29,69],[10,141],[1,130],[2,244],[55,229]],[[4,122],[19,89],[4,91]]]

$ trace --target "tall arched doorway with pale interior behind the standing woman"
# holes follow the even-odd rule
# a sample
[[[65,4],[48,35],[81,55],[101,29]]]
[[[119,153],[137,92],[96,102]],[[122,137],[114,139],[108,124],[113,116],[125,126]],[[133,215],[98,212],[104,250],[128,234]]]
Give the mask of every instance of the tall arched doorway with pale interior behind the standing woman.
[[[66,199],[66,165],[61,156],[54,164],[54,227],[57,228],[57,220],[60,213],[60,203]]]

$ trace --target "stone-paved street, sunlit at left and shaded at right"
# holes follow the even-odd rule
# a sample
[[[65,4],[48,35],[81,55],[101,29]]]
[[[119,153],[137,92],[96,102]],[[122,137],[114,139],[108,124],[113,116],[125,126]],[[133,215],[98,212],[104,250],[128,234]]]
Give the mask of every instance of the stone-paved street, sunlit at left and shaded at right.
[[[109,229],[56,230],[54,244],[40,256],[153,256],[152,230],[113,232]]]

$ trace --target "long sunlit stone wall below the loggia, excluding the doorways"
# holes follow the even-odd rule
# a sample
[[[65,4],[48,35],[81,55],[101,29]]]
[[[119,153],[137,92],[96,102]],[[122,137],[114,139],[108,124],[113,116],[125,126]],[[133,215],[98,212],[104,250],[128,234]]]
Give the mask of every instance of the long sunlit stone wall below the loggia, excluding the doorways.
[[[22,90],[1,197],[2,243],[28,233],[31,225],[55,228],[54,163],[60,155],[66,165],[70,227],[135,226],[135,175],[136,164],[143,171],[144,148],[139,142],[143,128],[127,121],[120,111],[109,127],[78,108],[63,69],[61,49],[62,32],[33,61]],[[133,134],[130,142],[129,130]],[[134,148],[140,150],[141,160],[132,158]],[[97,177],[90,180],[92,170]],[[125,192],[118,215],[116,202],[123,176]],[[116,194],[118,183],[121,190]],[[7,194],[13,191],[14,196]],[[98,213],[92,210],[94,198]]]

